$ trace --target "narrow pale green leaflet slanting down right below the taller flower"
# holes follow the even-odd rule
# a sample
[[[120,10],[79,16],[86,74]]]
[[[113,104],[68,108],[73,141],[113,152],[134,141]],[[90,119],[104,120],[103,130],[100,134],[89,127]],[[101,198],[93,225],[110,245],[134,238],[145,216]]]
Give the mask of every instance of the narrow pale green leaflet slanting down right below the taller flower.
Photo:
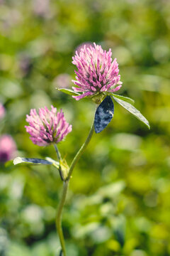
[[[125,107],[126,110],[128,110],[131,114],[134,114],[135,117],[137,117],[138,119],[140,119],[140,121],[142,121],[144,124],[147,125],[147,127],[150,129],[150,125],[149,122],[147,121],[147,119],[140,113],[139,110],[137,110],[135,107],[133,107],[130,103],[125,102],[124,100],[120,100],[114,96],[112,96],[113,99],[118,102],[118,104],[120,104],[121,106]]]

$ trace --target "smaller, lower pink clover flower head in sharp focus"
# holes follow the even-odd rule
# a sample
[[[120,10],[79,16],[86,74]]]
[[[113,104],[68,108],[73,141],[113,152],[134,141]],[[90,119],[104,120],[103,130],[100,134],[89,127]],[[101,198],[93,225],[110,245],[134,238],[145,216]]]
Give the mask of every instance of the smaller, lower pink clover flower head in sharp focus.
[[[72,132],[72,125],[69,125],[62,110],[57,112],[57,108],[51,106],[40,108],[37,113],[35,109],[30,110],[30,115],[26,115],[26,132],[30,134],[32,142],[38,146],[48,146],[52,143],[61,142],[64,137]]]

